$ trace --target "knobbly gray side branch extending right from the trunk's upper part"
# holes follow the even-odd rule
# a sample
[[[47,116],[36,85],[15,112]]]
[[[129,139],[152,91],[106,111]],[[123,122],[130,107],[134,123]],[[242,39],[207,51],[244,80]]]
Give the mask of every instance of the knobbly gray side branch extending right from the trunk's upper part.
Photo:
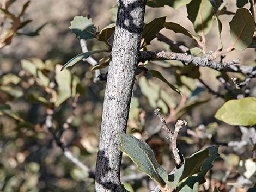
[[[194,66],[211,67],[212,69],[221,71],[225,67],[238,64],[239,59],[234,59],[230,62],[217,62],[210,60],[206,55],[204,57],[195,57],[188,55],[187,53],[174,53],[168,51],[141,51],[141,60],[153,60],[153,59],[165,59],[165,60],[178,60],[187,64],[193,64]]]

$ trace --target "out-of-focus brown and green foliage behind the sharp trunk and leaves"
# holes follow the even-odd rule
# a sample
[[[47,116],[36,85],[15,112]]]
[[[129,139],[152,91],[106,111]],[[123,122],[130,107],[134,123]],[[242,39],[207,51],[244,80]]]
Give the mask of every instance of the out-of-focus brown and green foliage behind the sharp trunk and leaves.
[[[76,15],[83,15],[93,19],[97,30],[102,29],[115,22],[116,1],[9,2],[8,10],[15,17],[10,15],[5,18],[1,26],[1,35],[5,35],[4,38],[1,36],[1,43],[7,45],[0,50],[0,191],[94,191],[94,179],[63,155],[63,150],[56,144],[45,123],[52,112],[53,133],[60,137],[59,140],[75,157],[91,170],[95,169],[105,82],[93,82],[94,71],[90,71],[92,66],[87,62],[80,61],[71,70],[60,72],[60,69],[70,58],[81,53],[79,40],[69,29],[70,21]],[[238,6],[248,7],[248,4],[245,2]],[[236,6],[235,1],[228,1],[227,9],[235,12]],[[26,10],[21,11],[22,7]],[[166,21],[182,23],[193,31],[193,26],[184,15],[185,9],[147,7],[144,22],[167,16]],[[3,22],[2,15],[3,11]],[[220,16],[223,45],[230,44],[227,23],[231,18],[232,15]],[[15,22],[19,23],[18,27],[14,27]],[[14,28],[19,30],[14,31]],[[10,35],[9,30],[13,30],[13,34]],[[214,23],[207,35],[209,49],[217,47],[216,31]],[[161,33],[188,48],[196,46],[192,39],[182,34],[166,29]],[[89,50],[107,48],[95,39],[88,40],[87,44]],[[167,44],[156,39],[147,49],[171,51]],[[198,54],[196,48],[190,51]],[[93,57],[100,60],[107,55],[100,53]],[[223,60],[234,58],[240,58],[243,65],[255,66],[255,49],[233,51]],[[161,122],[154,116],[153,110],[160,108],[170,127],[176,120],[185,119],[188,126],[181,130],[179,137],[180,149],[185,157],[202,147],[221,144],[220,158],[209,173],[205,189],[216,186],[219,191],[233,188],[240,192],[251,188],[256,182],[255,150],[252,152],[256,143],[255,128],[231,126],[214,119],[217,109],[225,101],[235,98],[234,93],[224,89],[216,77],[222,75],[229,83],[232,75],[184,66],[179,61],[152,61],[147,63],[147,67],[160,71],[184,96],[178,95],[149,72],[139,71],[127,133],[146,140],[153,148],[157,161],[170,171],[175,166],[173,157],[169,152],[166,133],[161,131]],[[102,71],[106,72],[107,68]],[[241,74],[235,75],[245,78]],[[225,99],[212,95],[202,82],[220,92]],[[249,84],[251,96],[255,97],[253,85],[255,80]],[[70,117],[72,121],[68,122]],[[254,140],[251,140],[252,135]],[[130,191],[148,191],[154,186],[147,176],[138,174],[136,166],[125,154],[121,179]],[[205,191],[204,188],[200,190]]]

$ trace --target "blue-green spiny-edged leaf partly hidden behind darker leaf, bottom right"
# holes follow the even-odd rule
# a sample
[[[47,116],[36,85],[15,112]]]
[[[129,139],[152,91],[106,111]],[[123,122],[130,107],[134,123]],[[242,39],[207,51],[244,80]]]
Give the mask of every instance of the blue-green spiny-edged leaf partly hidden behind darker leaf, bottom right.
[[[199,174],[197,176],[190,176],[187,177],[186,179],[184,179],[184,181],[181,181],[178,184],[178,190],[177,191],[181,191],[182,188],[184,187],[189,187],[187,188],[187,190],[182,190],[182,191],[186,191],[186,192],[194,192],[194,191],[198,191],[199,188],[199,184],[203,184],[206,180],[205,180],[205,175],[207,174],[207,172],[212,168],[212,163],[214,162],[214,160],[219,156],[218,154],[218,145],[215,146],[211,146],[208,147],[209,150],[209,158],[207,158],[203,165],[201,166],[201,171],[199,172]]]

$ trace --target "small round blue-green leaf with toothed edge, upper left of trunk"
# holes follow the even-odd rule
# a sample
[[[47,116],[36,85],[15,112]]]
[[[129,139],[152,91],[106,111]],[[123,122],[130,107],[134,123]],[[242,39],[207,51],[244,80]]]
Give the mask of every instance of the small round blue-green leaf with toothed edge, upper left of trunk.
[[[72,33],[80,39],[93,39],[96,36],[96,28],[92,22],[91,18],[83,16],[75,16],[74,20],[70,22],[71,26],[69,27],[72,30]]]

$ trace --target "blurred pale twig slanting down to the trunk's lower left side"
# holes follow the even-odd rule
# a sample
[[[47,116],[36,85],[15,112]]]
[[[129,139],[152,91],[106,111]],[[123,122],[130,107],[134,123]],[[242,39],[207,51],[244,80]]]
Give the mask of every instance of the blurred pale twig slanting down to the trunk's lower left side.
[[[46,120],[45,120],[45,126],[48,129],[48,131],[52,134],[53,139],[56,142],[56,144],[62,149],[62,151],[64,153],[64,156],[66,158],[68,158],[72,163],[77,165],[79,168],[81,168],[84,172],[88,173],[90,178],[95,178],[94,172],[90,171],[90,169],[86,165],[84,165],[80,160],[78,160],[69,151],[68,147],[66,147],[66,145],[63,144],[60,141],[61,135],[59,135],[59,137],[58,137],[57,134],[55,133],[54,129],[53,129],[52,116],[53,116],[53,110],[52,109],[47,109],[47,116],[46,116]]]

